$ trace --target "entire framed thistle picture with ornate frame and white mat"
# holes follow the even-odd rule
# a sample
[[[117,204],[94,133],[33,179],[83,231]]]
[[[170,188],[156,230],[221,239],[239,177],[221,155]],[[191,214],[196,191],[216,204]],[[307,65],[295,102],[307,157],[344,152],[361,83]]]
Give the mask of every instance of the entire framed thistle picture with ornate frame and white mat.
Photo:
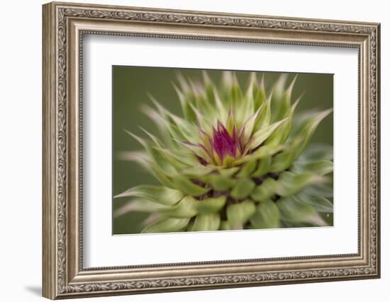
[[[380,277],[379,24],[43,6],[43,296]]]

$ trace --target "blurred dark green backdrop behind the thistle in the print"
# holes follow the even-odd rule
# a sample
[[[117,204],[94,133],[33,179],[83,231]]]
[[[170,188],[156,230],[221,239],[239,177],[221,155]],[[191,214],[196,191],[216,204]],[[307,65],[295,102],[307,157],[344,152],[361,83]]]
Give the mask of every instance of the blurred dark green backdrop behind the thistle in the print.
[[[182,115],[179,99],[172,83],[177,83],[177,73],[194,79],[202,79],[204,69],[177,69],[139,66],[113,66],[113,195],[119,194],[135,185],[157,185],[137,163],[121,161],[118,152],[138,151],[140,145],[130,137],[124,129],[145,137],[139,129],[145,128],[158,135],[155,124],[140,110],[143,104],[152,105],[148,94],[171,112]],[[215,83],[221,80],[221,71],[208,70],[208,75]],[[242,89],[246,89],[248,71],[235,71]],[[280,76],[279,72],[265,72],[266,88],[271,86]],[[261,79],[262,71],[257,78]],[[296,74],[289,74],[289,83]],[[333,74],[299,74],[294,86],[292,100],[305,93],[296,114],[304,110],[325,110],[333,108]],[[311,143],[324,143],[333,146],[333,115],[321,122],[311,138]],[[113,210],[123,206],[130,199],[113,199]],[[140,222],[147,215],[131,213],[113,219],[113,234],[139,233]]]

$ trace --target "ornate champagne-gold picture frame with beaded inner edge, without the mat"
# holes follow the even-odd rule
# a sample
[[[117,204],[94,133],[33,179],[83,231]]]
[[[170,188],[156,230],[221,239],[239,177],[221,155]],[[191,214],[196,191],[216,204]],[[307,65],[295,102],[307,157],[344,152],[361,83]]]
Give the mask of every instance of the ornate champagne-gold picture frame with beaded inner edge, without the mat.
[[[45,4],[43,296],[76,298],[379,278],[379,29],[379,23]],[[357,254],[84,269],[80,106],[84,33],[357,48]]]

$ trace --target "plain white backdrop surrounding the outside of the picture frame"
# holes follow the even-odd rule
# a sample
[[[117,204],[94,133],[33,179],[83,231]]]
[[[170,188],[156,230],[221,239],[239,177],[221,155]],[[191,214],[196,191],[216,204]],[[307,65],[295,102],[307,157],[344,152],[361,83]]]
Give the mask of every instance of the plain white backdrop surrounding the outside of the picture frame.
[[[79,0],[84,2],[82,0]],[[381,22],[381,83],[389,83],[386,1],[98,1],[161,8]],[[41,284],[41,7],[43,1],[1,6],[0,284],[2,301],[42,301]],[[322,284],[187,291],[88,301],[387,301],[390,286],[389,86],[382,85],[382,278]],[[348,118],[348,117],[346,117]],[[348,181],[348,180],[345,180]]]

